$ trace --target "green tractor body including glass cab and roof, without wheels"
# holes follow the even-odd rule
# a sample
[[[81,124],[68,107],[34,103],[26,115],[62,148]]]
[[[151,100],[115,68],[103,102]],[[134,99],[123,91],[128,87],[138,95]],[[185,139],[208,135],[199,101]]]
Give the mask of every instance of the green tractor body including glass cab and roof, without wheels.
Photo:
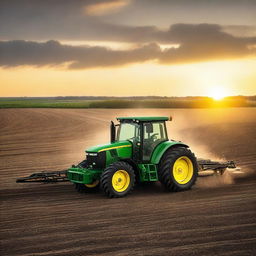
[[[168,140],[168,117],[120,117],[117,120],[117,125],[111,122],[111,142],[88,148],[86,160],[68,169],[68,179],[79,190],[94,188],[106,169],[115,163],[129,165],[138,182],[158,181],[159,165],[165,153],[173,148],[188,148],[180,141]],[[119,180],[125,178],[122,175]]]

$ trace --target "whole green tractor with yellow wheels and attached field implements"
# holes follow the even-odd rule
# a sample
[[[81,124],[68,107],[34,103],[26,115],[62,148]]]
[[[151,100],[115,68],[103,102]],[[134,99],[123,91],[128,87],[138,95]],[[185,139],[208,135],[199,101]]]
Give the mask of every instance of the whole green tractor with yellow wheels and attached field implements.
[[[124,197],[135,184],[160,181],[167,191],[184,191],[196,182],[199,171],[223,174],[233,161],[197,160],[189,146],[169,140],[169,117],[118,117],[111,121],[110,143],[90,147],[86,159],[57,172],[34,173],[17,182],[70,181],[79,192],[99,188],[110,198]]]

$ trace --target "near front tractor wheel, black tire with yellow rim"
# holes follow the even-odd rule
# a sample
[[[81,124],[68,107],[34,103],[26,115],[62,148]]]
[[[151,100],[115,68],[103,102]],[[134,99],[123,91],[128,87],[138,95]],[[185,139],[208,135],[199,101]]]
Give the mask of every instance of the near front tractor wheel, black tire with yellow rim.
[[[124,197],[129,194],[135,183],[135,174],[126,162],[110,164],[101,175],[100,186],[108,197]]]

